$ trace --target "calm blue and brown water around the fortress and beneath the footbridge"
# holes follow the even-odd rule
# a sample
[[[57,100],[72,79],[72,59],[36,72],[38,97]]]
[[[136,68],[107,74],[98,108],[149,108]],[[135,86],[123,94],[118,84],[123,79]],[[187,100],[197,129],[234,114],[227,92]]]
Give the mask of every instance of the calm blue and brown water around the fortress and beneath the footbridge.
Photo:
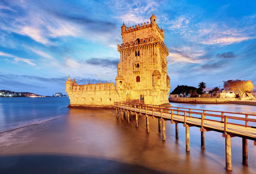
[[[225,139],[205,133],[200,148],[199,128],[191,127],[191,151],[186,152],[185,128],[166,122],[166,141],[158,120],[145,117],[115,118],[109,109],[69,109],[68,98],[0,98],[0,173],[170,173],[256,174],[256,146],[248,141],[248,166],[241,164],[241,138],[233,137],[232,172],[225,171]],[[235,104],[184,104],[176,107],[255,113],[255,106]],[[19,128],[19,129],[16,129]]]

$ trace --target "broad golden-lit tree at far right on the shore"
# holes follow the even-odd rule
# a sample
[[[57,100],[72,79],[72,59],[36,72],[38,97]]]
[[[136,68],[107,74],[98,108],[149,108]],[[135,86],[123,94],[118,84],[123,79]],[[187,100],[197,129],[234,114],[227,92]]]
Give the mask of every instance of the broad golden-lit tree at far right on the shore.
[[[228,80],[223,81],[224,82],[224,89],[225,90],[232,90],[236,94],[239,95],[239,97],[243,97],[245,92],[251,92],[255,87],[253,85],[253,82],[251,80]]]

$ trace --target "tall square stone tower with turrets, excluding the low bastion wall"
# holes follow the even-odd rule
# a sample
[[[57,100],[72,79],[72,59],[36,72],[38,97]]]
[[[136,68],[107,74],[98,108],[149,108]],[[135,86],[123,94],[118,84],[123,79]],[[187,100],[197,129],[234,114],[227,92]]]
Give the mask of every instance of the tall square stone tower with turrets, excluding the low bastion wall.
[[[126,91],[126,100],[144,100],[147,104],[168,103],[170,78],[167,74],[168,48],[164,30],[152,14],[149,22],[121,27],[123,43],[118,46],[116,88]]]

